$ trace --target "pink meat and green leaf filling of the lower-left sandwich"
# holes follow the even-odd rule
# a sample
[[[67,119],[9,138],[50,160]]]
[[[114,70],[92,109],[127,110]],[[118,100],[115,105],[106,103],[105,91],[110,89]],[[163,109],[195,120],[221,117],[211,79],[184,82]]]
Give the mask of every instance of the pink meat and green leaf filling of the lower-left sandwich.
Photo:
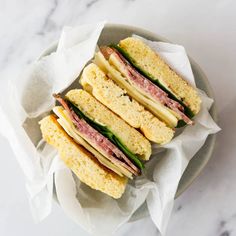
[[[105,126],[86,117],[73,103],[54,94],[56,100],[64,107],[78,132],[113,164],[124,167],[134,175],[139,175],[143,164],[122,142]]]

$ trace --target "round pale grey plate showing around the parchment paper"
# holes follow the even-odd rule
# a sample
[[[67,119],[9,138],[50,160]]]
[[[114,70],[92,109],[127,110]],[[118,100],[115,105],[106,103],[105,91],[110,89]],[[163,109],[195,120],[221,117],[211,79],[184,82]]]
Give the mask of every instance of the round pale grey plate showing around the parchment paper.
[[[104,27],[99,40],[98,45],[108,45],[110,43],[118,43],[121,39],[124,39],[132,34],[140,35],[146,39],[153,41],[162,41],[162,42],[170,42],[169,40],[149,32],[147,30],[127,26],[120,24],[106,24]],[[57,48],[57,42],[53,43],[46,50],[43,51],[40,58],[50,53],[54,52]],[[192,71],[195,77],[196,85],[199,89],[204,90],[206,94],[214,99],[214,94],[209,84],[209,81],[206,75],[203,73],[199,65],[189,56]],[[215,104],[210,109],[210,114],[212,118],[217,121],[217,112]],[[197,176],[201,173],[203,168],[206,166],[207,162],[212,156],[213,149],[215,147],[216,134],[209,135],[205,144],[202,148],[196,153],[196,155],[189,162],[181,180],[178,185],[178,189],[176,192],[175,198],[180,196],[197,178]],[[148,215],[146,204],[144,203],[132,216],[130,221],[134,221],[140,218],[143,218]]]

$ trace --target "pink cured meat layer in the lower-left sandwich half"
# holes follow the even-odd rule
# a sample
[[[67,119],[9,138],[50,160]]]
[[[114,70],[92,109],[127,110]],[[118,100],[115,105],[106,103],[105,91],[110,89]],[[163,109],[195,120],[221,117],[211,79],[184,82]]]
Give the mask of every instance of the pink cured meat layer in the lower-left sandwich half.
[[[114,164],[117,163],[134,175],[139,175],[140,170],[124,155],[124,153],[117,148],[108,138],[99,133],[91,125],[89,125],[84,119],[81,119],[67,104],[67,102],[59,95],[53,95],[57,101],[68,112],[76,129],[86,137],[91,144],[93,144],[98,150],[102,150],[110,161]]]

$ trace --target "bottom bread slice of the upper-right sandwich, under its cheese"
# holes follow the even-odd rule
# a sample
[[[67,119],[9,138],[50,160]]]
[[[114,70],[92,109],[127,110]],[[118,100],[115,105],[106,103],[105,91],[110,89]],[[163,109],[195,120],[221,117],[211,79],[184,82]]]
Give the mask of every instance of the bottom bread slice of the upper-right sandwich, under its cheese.
[[[97,65],[91,63],[84,68],[80,83],[85,90],[92,93],[127,123],[140,129],[149,140],[164,144],[172,139],[174,135],[172,129],[130,98],[127,92],[107,78]]]

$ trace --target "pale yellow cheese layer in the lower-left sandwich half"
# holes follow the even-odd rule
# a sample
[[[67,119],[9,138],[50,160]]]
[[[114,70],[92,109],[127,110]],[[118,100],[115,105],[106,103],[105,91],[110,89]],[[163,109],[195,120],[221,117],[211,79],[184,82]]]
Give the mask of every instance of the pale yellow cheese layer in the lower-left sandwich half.
[[[133,178],[132,173],[130,173],[127,169],[117,163],[112,163],[95,148],[93,148],[84,138],[81,137],[81,134],[77,131],[74,124],[72,123],[68,112],[63,107],[54,107],[53,112],[58,116],[57,121],[66,131],[66,133],[71,136],[78,144],[82,145],[85,149],[91,152],[101,164],[120,176],[125,175],[130,179]]]

